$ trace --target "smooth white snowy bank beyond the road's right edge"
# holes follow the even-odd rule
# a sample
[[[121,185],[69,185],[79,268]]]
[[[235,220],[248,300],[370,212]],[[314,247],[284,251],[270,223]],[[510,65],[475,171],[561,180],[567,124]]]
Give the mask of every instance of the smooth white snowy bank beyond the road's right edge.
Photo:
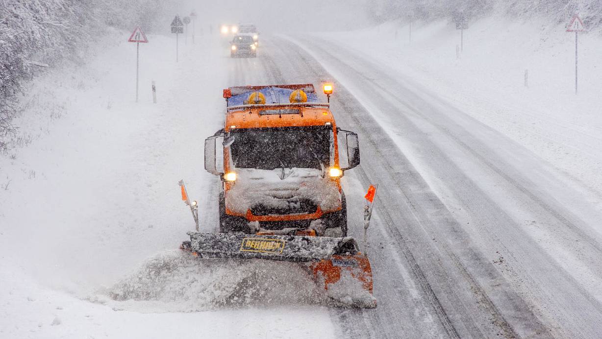
[[[580,35],[579,94],[575,95],[575,36],[563,26],[545,19],[482,19],[464,31],[464,51],[457,57],[460,34],[442,20],[414,23],[411,42],[409,26],[396,23],[320,38],[356,50],[438,93],[600,198],[602,38]]]

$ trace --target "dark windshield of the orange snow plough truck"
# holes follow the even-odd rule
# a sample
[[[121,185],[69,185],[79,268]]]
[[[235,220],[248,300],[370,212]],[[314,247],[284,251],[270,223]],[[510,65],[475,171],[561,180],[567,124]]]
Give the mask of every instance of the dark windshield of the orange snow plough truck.
[[[326,168],[331,132],[327,126],[232,130],[232,161],[237,168]]]

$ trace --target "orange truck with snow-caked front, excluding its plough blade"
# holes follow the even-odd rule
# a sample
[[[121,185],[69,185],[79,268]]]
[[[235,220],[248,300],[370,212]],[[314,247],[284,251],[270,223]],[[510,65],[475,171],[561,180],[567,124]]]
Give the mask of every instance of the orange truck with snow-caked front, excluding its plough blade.
[[[224,128],[205,140],[205,169],[222,180],[220,232],[347,236],[341,177],[359,164],[358,135],[337,126],[312,84],[224,97]]]

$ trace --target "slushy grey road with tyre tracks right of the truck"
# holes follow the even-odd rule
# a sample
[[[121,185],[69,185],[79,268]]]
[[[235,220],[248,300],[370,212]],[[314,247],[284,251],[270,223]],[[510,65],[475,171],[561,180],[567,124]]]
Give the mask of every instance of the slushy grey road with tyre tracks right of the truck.
[[[292,40],[275,40],[282,54],[272,60],[291,63],[281,74],[292,79],[311,69],[314,81],[335,81],[339,126],[362,142],[350,177],[383,187],[371,238],[382,244],[371,251],[381,308],[365,328],[391,337],[600,334],[601,215],[585,203],[588,188],[367,55]],[[409,291],[414,305],[402,304]]]

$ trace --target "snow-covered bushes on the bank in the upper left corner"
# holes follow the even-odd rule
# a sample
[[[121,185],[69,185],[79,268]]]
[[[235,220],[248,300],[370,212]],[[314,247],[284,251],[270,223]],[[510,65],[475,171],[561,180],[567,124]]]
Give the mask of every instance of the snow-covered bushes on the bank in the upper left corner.
[[[85,38],[107,26],[152,32],[175,1],[0,0],[0,151],[16,129],[11,117],[26,81],[76,57]]]

